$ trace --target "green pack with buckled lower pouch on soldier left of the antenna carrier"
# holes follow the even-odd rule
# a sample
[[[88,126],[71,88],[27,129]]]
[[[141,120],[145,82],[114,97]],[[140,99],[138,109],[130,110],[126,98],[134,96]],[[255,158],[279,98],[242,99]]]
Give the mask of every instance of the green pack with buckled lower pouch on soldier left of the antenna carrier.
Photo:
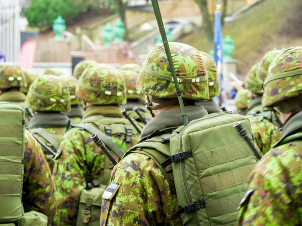
[[[101,131],[87,123],[97,125]],[[119,159],[123,157],[124,152],[112,141],[112,137],[125,136],[127,146],[125,148],[129,149],[131,147],[132,137],[137,134],[127,119],[102,117],[100,115],[88,117],[84,119],[81,124],[73,125],[71,128],[73,127],[86,130],[91,134],[97,134],[106,147],[112,150]],[[100,225],[102,195],[109,185],[110,176],[110,160],[106,157],[102,175],[98,179],[90,181],[87,188],[81,192],[76,226]]]

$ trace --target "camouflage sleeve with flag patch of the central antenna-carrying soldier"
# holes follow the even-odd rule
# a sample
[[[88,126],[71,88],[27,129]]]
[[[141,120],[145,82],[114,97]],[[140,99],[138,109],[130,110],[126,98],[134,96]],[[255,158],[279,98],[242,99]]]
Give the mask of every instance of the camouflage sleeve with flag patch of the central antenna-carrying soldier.
[[[101,226],[182,225],[170,220],[178,209],[169,182],[152,159],[132,153],[112,171],[102,202]]]

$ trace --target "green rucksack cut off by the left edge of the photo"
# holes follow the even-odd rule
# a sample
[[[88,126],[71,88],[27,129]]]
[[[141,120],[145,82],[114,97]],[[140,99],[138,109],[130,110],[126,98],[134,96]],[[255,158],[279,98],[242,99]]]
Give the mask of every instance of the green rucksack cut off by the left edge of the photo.
[[[24,109],[1,102],[0,115],[0,225],[47,225],[46,215],[36,211],[24,213],[22,204]]]

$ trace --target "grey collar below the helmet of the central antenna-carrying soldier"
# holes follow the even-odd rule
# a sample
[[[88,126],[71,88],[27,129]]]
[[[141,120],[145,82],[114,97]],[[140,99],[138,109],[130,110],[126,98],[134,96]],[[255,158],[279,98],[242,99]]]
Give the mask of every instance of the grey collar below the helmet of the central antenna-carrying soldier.
[[[189,122],[208,115],[203,106],[186,106],[185,109]],[[156,117],[154,117],[149,123],[147,123],[147,125],[145,125],[145,127],[141,131],[140,137],[143,138],[149,136],[157,130],[160,131],[167,128],[182,126],[183,120],[181,115],[182,113],[180,108],[161,111]]]

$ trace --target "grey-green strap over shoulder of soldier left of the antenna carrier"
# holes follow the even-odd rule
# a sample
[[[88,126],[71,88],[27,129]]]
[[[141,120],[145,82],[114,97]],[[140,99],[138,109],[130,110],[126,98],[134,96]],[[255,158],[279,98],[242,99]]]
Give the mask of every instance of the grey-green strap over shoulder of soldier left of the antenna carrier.
[[[115,155],[117,155],[120,159],[123,157],[124,152],[118,147],[117,144],[115,144],[110,137],[108,137],[106,134],[104,134],[102,131],[98,130],[94,126],[90,124],[78,124],[74,125],[72,127],[80,128],[83,130],[86,130],[87,132],[91,134],[96,134],[98,137],[104,142],[104,144],[114,152]]]

